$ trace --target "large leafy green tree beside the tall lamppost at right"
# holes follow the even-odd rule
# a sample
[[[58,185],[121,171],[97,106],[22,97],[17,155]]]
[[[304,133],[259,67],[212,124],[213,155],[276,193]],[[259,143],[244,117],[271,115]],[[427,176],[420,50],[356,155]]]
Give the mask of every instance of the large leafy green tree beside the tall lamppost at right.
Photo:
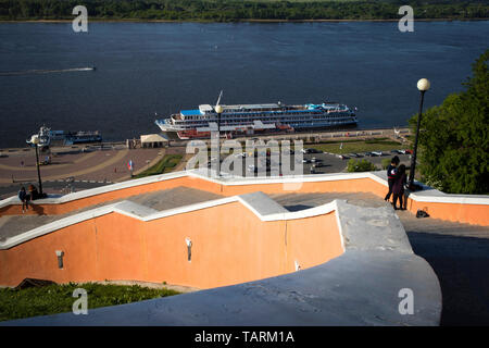
[[[450,194],[489,194],[489,50],[473,64],[466,90],[423,113],[422,181]],[[415,129],[417,115],[410,120]]]

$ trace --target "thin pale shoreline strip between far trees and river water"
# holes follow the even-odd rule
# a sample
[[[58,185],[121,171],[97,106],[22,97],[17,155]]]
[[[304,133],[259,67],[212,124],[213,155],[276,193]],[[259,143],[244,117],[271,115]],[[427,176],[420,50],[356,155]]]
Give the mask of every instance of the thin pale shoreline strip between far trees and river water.
[[[71,23],[71,20],[0,20],[0,23]],[[348,23],[348,22],[399,22],[401,18],[391,20],[237,20],[237,21],[204,21],[204,20],[142,20],[142,18],[89,18],[95,23]],[[489,18],[414,18],[414,22],[484,22]]]

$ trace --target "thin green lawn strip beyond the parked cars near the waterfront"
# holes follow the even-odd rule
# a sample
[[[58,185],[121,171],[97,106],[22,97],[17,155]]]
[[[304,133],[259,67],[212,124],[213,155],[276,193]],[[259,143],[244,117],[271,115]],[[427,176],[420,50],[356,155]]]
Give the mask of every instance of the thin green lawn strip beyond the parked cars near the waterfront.
[[[341,142],[343,144],[340,149]],[[323,142],[314,145],[304,145],[304,148],[314,148],[321,151],[346,154],[350,152],[369,152],[369,151],[390,151],[394,149],[402,149],[401,142],[385,139],[372,139],[372,140],[354,140],[354,141],[335,141]]]

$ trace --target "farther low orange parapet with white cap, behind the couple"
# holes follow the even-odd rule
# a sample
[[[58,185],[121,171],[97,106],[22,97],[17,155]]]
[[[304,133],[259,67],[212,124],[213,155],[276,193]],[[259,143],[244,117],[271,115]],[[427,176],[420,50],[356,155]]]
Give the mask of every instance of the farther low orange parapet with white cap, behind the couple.
[[[235,196],[261,190],[278,192],[372,192],[384,197],[387,179],[384,172],[311,174],[283,177],[222,177],[213,178],[206,171],[186,171],[127,181],[99,188],[83,190],[62,197],[35,201],[32,214],[63,214],[80,208],[134,195],[186,186],[223,196]],[[487,196],[448,195],[429,187],[411,192],[408,209],[418,209],[430,216],[478,225],[489,225],[489,198]],[[21,214],[20,200],[11,197],[0,201],[0,216]]]

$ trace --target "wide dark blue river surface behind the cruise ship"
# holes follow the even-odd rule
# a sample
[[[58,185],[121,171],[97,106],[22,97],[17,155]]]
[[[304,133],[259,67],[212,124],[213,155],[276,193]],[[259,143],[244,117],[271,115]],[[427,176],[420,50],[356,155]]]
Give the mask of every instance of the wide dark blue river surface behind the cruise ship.
[[[97,66],[95,72],[0,76],[0,147],[46,124],[100,129],[105,140],[156,133],[154,113],[201,103],[306,103],[359,108],[360,127],[405,125],[460,91],[488,48],[489,22],[0,24],[0,72]]]

